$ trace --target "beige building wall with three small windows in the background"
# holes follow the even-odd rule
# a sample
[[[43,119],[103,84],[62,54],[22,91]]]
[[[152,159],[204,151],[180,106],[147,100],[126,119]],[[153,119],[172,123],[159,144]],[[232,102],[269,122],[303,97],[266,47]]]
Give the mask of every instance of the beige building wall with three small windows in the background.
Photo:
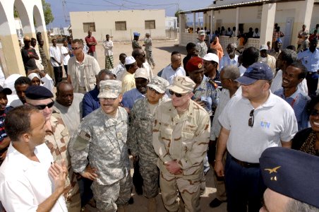
[[[131,41],[133,32],[140,33],[142,39],[145,33],[150,33],[152,39],[165,39],[164,10],[133,10],[133,11],[88,11],[71,12],[73,39],[84,38],[88,35],[83,30],[83,23],[95,23],[92,32],[98,42],[105,40],[105,35],[112,36],[113,41]],[[155,20],[155,29],[145,29],[145,20]],[[126,21],[126,30],[116,30],[116,21]]]

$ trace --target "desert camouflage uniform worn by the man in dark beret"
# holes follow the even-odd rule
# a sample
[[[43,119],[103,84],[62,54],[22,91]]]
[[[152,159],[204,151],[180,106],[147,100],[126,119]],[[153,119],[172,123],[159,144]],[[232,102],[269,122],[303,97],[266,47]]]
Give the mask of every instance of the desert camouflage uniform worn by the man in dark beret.
[[[80,190],[78,187],[78,181],[76,180],[76,175],[71,167],[70,155],[67,151],[68,141],[70,140],[68,129],[66,128],[61,115],[55,110],[52,112],[50,123],[52,131],[47,131],[44,142],[50,149],[54,161],[57,160],[58,163],[61,159],[66,161],[66,167],[68,167],[66,186],[70,187],[67,194],[64,194],[64,197],[66,197],[66,206],[69,212],[78,212],[81,208]]]

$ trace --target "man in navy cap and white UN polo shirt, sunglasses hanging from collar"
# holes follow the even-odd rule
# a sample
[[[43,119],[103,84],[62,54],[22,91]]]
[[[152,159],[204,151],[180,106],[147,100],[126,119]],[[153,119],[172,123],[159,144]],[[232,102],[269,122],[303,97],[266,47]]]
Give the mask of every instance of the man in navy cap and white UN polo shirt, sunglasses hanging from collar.
[[[227,210],[258,211],[265,184],[260,175],[259,158],[266,148],[291,148],[297,131],[294,110],[270,92],[272,70],[267,64],[254,63],[243,76],[242,94],[229,100],[219,122],[215,171],[225,177]],[[227,149],[226,165],[222,158]],[[244,192],[243,192],[244,191]]]

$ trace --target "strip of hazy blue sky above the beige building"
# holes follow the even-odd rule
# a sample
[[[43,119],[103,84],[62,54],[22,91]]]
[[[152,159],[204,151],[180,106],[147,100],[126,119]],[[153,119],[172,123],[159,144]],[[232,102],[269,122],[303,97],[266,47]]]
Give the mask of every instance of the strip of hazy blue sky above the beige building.
[[[165,9],[166,16],[174,16],[180,8],[183,11],[204,8],[212,4],[212,0],[46,0],[51,4],[54,21],[49,27],[68,26],[66,19],[70,11],[112,11],[131,9]],[[66,1],[65,12],[62,2]],[[67,16],[65,18],[65,16]]]

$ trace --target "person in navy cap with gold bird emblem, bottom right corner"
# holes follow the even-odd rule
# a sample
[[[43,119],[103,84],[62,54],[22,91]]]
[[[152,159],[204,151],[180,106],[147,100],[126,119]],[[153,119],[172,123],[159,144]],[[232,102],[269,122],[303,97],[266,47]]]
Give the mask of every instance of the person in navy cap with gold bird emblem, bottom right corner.
[[[319,211],[318,156],[272,147],[263,152],[259,161],[268,187],[260,212]]]

